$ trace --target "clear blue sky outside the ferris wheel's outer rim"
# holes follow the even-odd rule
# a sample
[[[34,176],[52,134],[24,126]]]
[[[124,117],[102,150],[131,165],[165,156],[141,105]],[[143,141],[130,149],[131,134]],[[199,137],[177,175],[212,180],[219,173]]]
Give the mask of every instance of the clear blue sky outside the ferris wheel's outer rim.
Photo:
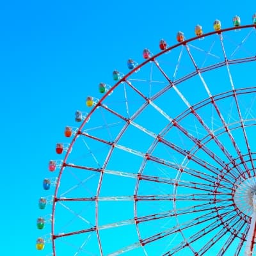
[[[47,164],[100,81],[113,85],[114,69],[161,38],[176,44],[177,31],[212,31],[215,19],[228,28],[234,15],[251,24],[254,12],[255,1],[2,1],[1,255],[45,255],[35,241]]]

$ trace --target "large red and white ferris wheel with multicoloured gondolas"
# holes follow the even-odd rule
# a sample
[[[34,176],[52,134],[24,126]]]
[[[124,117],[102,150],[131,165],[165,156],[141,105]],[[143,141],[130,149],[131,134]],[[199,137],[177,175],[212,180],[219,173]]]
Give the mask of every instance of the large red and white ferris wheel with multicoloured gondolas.
[[[233,22],[160,40],[87,97],[49,161],[38,250],[256,255],[256,15]]]

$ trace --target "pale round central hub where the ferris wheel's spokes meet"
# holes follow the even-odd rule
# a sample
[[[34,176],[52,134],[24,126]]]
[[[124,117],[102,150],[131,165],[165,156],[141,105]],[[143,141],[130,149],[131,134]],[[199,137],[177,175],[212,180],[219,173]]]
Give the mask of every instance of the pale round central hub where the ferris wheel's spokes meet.
[[[251,216],[255,209],[256,177],[243,180],[236,188],[234,202],[244,214]],[[253,203],[254,202],[254,203]]]

